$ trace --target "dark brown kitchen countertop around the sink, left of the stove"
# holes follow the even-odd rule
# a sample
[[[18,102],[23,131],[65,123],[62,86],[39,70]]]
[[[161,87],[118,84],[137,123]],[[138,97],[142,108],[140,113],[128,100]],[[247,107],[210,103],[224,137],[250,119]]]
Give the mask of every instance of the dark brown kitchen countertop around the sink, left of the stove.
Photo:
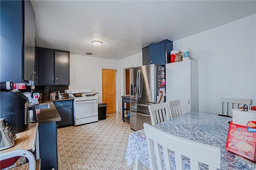
[[[54,106],[53,102],[54,101],[65,101],[65,100],[74,100],[73,98],[65,98],[65,99],[55,99],[55,100],[50,100],[50,99],[42,99],[39,100],[39,104],[44,104],[48,103],[50,108],[49,109],[40,109],[40,113],[37,114],[37,119],[38,123],[49,123],[49,122],[56,122],[60,121],[61,117],[60,114],[58,113],[56,107]]]

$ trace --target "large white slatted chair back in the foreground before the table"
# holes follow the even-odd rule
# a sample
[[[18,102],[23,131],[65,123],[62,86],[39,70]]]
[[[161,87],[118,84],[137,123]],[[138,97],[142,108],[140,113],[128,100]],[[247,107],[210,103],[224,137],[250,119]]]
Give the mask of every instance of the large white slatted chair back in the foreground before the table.
[[[152,170],[164,169],[159,145],[162,146],[165,169],[172,169],[170,150],[174,152],[175,165],[177,170],[184,169],[182,156],[190,158],[191,170],[199,169],[198,162],[208,165],[209,170],[216,170],[217,168],[220,169],[219,147],[214,147],[211,145],[206,145],[204,143],[198,143],[195,141],[190,141],[188,139],[174,136],[170,133],[161,131],[160,129],[156,129],[148,123],[144,123],[144,130],[148,145],[150,168]]]

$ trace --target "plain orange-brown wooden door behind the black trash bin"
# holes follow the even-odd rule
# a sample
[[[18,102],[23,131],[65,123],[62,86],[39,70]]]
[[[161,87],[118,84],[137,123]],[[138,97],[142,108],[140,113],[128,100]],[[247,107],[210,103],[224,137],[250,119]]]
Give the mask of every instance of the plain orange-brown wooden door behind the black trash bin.
[[[116,113],[116,70],[102,69],[102,102],[107,114]]]

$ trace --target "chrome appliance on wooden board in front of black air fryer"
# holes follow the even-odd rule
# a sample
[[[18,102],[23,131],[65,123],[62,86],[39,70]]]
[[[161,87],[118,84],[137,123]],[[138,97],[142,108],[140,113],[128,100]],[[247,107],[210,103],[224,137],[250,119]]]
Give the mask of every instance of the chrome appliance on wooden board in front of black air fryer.
[[[14,146],[15,140],[16,135],[12,127],[5,122],[5,119],[0,118],[0,150]]]

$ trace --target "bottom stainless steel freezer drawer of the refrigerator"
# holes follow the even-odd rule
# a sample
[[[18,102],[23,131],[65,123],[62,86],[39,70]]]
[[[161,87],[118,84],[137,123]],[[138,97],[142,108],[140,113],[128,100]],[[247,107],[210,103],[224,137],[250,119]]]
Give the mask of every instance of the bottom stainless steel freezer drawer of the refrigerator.
[[[144,128],[144,123],[152,125],[150,113],[130,109],[130,128],[138,131]]]

